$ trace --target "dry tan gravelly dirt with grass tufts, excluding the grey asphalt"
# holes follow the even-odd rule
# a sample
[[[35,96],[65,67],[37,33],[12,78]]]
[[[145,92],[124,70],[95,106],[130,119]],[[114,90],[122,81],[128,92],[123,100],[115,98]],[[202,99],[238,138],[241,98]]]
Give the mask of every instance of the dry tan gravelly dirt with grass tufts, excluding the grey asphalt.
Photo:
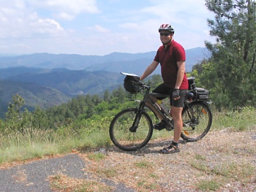
[[[180,153],[159,153],[168,144],[150,142],[133,153],[113,147],[99,162],[80,156],[90,162],[87,172],[135,191],[256,191],[255,129],[211,131],[198,142],[181,141]]]

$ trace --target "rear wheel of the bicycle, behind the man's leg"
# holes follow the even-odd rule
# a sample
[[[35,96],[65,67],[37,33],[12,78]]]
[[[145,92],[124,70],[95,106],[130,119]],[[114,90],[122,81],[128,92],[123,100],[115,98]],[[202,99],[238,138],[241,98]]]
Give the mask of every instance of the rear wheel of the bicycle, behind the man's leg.
[[[181,138],[188,142],[195,142],[206,136],[211,128],[212,114],[204,102],[193,102],[184,107],[182,112],[183,130]]]

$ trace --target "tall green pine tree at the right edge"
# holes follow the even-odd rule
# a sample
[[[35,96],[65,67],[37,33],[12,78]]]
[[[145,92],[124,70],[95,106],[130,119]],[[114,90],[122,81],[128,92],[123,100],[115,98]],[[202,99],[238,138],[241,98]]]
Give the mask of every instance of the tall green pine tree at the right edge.
[[[255,104],[255,1],[206,0],[214,12],[208,19],[210,35],[216,43],[206,42],[212,56],[204,65],[200,82],[211,80],[214,103],[225,107]]]

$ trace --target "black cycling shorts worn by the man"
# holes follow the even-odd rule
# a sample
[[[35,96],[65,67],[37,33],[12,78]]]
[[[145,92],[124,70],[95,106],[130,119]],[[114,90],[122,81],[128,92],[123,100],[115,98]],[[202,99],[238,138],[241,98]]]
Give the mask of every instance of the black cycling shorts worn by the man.
[[[164,95],[169,95],[170,96],[170,106],[173,107],[184,107],[184,99],[185,99],[185,95],[187,93],[186,89],[181,89],[179,91],[179,96],[180,99],[174,100],[173,99],[173,88],[168,88],[166,87],[163,83],[161,85],[158,85],[157,88],[155,88],[152,92],[153,93],[161,93]],[[157,99],[165,99],[165,98],[157,98]]]

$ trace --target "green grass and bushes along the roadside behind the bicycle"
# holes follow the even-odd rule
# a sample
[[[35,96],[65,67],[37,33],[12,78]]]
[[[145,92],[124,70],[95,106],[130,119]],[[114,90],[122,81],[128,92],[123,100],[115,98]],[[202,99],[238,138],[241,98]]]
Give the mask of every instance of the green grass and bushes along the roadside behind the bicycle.
[[[124,90],[119,90],[118,93],[120,92],[123,92],[124,95],[126,94]],[[81,96],[78,97],[78,99],[82,98]],[[91,98],[94,97],[92,96]],[[14,99],[17,99],[17,96],[14,96]],[[18,99],[21,99],[20,96],[18,96]],[[77,99],[72,99],[71,102],[79,103]],[[92,102],[89,100],[90,104]],[[14,101],[14,103],[16,102]],[[124,98],[123,102],[118,102],[117,97],[110,99],[108,103],[106,101],[99,101],[94,107],[89,108],[89,110],[94,111],[90,118],[85,118],[84,113],[79,114],[77,118],[58,116],[50,112],[53,109],[49,109],[48,111],[37,110],[35,112],[25,110],[21,111],[20,114],[18,114],[17,110],[15,112],[12,111],[12,116],[8,116],[10,119],[7,118],[0,122],[0,163],[26,160],[29,158],[42,158],[45,155],[69,153],[72,150],[108,147],[112,145],[108,128],[113,116],[121,109],[131,107],[134,104],[136,104],[135,101],[129,101],[127,98]],[[77,106],[81,107],[80,104]],[[11,108],[13,109],[15,107],[13,106]],[[54,111],[63,112],[64,104],[53,108]],[[218,112],[214,110],[213,105],[212,110],[214,121],[211,131],[219,131],[222,128],[230,128],[233,131],[255,129],[255,107],[241,107],[238,110],[222,110]],[[39,122],[38,113],[40,115],[42,113],[44,114],[42,122]],[[7,114],[10,114],[10,111]],[[53,121],[54,118],[57,120]],[[53,127],[36,126],[34,122],[37,122],[38,125],[45,123]],[[157,136],[154,135],[153,138],[159,139],[160,137],[161,133],[157,134]]]

